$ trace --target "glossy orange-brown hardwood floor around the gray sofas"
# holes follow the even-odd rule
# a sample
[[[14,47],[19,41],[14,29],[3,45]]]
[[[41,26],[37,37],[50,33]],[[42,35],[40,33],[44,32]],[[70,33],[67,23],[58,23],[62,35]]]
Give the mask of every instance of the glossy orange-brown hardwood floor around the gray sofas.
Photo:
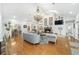
[[[30,44],[16,36],[6,44],[6,54],[8,55],[70,55],[71,50],[68,39],[58,37],[56,45],[49,44]]]

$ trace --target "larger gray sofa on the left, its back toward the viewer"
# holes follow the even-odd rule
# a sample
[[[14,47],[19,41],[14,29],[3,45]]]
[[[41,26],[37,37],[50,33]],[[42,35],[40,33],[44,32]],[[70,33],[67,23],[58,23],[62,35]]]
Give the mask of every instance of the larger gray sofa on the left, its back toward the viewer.
[[[23,39],[33,44],[41,41],[40,35],[37,35],[36,33],[23,33]]]

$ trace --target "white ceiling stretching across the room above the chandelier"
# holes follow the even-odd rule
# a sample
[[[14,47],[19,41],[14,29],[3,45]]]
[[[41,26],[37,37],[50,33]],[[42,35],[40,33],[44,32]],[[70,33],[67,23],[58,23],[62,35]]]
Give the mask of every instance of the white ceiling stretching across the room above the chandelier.
[[[19,20],[32,20],[37,6],[40,7],[44,14],[52,14],[50,10],[58,11],[58,14],[66,17],[76,17],[79,13],[79,4],[77,3],[4,3],[2,7],[3,19],[10,19],[16,16]],[[72,14],[69,14],[72,12]]]

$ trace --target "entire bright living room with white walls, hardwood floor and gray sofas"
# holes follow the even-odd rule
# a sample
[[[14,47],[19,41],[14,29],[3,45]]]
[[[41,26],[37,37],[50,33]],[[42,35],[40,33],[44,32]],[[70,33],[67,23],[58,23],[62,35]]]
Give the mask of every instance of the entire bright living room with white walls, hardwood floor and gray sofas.
[[[0,4],[2,54],[79,54],[78,6],[78,3]]]

